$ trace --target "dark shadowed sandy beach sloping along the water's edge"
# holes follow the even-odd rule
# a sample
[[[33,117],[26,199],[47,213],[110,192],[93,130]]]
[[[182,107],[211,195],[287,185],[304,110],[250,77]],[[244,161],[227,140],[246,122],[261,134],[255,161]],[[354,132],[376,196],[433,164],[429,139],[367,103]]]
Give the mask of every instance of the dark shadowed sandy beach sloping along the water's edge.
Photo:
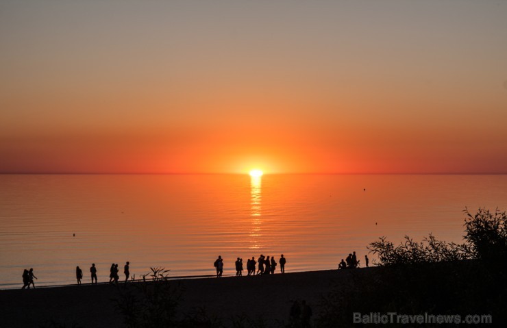
[[[319,312],[322,297],[338,283],[346,283],[354,271],[321,270],[255,277],[222,277],[177,279],[171,284],[182,291],[178,313],[205,308],[208,316],[217,316],[230,323],[232,316],[245,314],[262,318],[275,326],[276,320],[287,321],[293,300],[306,300],[314,316]],[[1,327],[125,327],[116,299],[134,283],[119,286],[61,286],[31,290],[1,290]]]

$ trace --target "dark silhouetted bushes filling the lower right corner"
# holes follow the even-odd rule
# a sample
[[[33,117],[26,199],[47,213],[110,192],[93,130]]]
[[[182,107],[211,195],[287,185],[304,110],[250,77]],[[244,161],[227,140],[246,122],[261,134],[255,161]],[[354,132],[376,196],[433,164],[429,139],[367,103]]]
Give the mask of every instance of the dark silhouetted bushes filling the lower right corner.
[[[354,312],[397,314],[491,315],[495,326],[507,323],[507,216],[505,212],[465,210],[462,244],[436,240],[398,245],[386,238],[369,245],[378,255],[375,275],[354,272],[347,285],[324,301],[316,327],[347,327]],[[414,324],[412,324],[414,325]],[[435,324],[417,325],[433,327]],[[493,325],[490,325],[493,326]]]

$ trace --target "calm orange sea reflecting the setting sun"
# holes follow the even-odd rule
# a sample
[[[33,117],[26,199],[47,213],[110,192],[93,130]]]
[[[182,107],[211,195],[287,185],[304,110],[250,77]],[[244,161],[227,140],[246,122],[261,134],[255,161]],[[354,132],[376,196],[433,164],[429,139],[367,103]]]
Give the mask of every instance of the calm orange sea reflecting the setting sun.
[[[380,236],[460,242],[465,206],[507,210],[507,175],[0,175],[0,288],[23,268],[38,286],[75,283],[76,266],[89,282],[92,262],[99,282],[125,261],[210,275],[217,255],[224,274],[260,253],[336,268]]]

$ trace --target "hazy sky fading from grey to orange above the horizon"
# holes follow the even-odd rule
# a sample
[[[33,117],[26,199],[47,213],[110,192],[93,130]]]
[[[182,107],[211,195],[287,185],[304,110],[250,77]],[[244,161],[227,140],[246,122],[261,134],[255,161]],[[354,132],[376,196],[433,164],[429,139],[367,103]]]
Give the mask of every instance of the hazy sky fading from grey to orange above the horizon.
[[[0,173],[507,173],[506,1],[0,2]]]

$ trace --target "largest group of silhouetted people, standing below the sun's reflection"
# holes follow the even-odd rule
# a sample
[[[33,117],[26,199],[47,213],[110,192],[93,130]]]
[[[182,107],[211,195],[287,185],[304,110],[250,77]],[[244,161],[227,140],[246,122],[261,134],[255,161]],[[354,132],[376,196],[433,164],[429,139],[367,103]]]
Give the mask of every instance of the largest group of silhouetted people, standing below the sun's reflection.
[[[283,254],[280,255],[279,262],[281,273],[285,273],[286,258]],[[238,257],[234,264],[236,266],[236,277],[243,276],[243,259]],[[261,254],[257,261],[255,257],[252,256],[251,259],[247,260],[248,275],[256,275],[256,264],[258,264],[257,275],[273,275],[277,266],[274,256],[271,256],[270,259],[269,256],[264,257],[264,255]],[[213,266],[217,270],[217,278],[222,277],[223,258],[220,255],[217,260],[215,260]]]

